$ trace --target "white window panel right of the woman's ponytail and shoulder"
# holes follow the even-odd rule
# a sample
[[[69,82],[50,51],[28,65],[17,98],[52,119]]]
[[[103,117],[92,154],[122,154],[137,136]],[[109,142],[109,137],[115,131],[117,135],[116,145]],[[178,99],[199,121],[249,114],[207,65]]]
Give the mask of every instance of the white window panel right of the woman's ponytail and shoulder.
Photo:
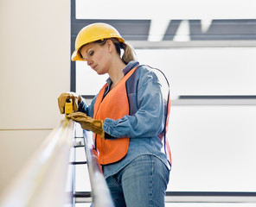
[[[255,95],[256,48],[137,50],[141,64],[170,80],[172,96]]]

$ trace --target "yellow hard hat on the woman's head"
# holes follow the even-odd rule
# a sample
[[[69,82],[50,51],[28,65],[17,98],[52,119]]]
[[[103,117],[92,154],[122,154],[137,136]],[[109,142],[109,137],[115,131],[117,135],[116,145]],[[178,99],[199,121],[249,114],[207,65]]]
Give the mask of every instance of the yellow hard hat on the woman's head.
[[[82,28],[77,34],[75,43],[74,43],[74,53],[71,56],[72,61],[82,60],[79,49],[83,45],[93,41],[104,40],[106,38],[118,38],[118,41],[125,42],[125,40],[118,33],[116,28],[113,28],[111,25],[106,23],[93,23],[89,24],[86,27]]]

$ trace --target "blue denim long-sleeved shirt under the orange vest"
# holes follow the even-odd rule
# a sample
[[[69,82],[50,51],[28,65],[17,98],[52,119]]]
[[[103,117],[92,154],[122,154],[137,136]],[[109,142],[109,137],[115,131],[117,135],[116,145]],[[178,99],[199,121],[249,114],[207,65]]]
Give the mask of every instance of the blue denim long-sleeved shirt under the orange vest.
[[[137,61],[131,61],[123,69],[124,74],[138,65]],[[105,91],[107,93],[112,81],[108,78],[106,82],[109,85]],[[164,127],[164,103],[161,85],[155,72],[152,72],[148,66],[138,66],[132,81],[127,85],[127,93],[131,108],[130,115],[123,116],[117,121],[106,118],[103,129],[107,134],[106,139],[130,137],[128,152],[122,160],[103,166],[105,178],[118,173],[131,160],[143,154],[155,155],[169,167],[166,155],[161,151],[163,143],[157,136]],[[82,100],[79,111],[93,117],[96,98],[97,95],[88,106],[85,100]]]

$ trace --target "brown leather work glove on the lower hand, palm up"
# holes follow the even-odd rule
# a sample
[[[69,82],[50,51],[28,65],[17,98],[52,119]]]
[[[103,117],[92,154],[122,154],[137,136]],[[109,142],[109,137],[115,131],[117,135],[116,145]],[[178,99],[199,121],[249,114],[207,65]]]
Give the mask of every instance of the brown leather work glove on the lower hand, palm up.
[[[105,132],[102,129],[103,121],[99,119],[93,119],[90,116],[86,116],[85,113],[82,112],[75,112],[72,114],[67,115],[67,118],[73,119],[75,122],[79,122],[82,129],[90,130],[98,135],[101,138],[105,138]]]

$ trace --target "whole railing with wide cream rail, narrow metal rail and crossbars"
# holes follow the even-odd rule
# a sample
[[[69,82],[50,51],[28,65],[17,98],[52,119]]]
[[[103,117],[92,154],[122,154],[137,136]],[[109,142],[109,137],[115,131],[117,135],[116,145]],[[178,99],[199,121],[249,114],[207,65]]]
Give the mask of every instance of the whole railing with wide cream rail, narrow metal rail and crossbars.
[[[42,141],[35,154],[22,167],[21,172],[0,195],[1,207],[63,207],[74,206],[79,193],[74,190],[74,165],[87,164],[93,198],[93,207],[113,207],[97,156],[92,151],[92,134],[84,131],[86,161],[76,162],[72,152],[75,125],[72,120],[61,120]]]

